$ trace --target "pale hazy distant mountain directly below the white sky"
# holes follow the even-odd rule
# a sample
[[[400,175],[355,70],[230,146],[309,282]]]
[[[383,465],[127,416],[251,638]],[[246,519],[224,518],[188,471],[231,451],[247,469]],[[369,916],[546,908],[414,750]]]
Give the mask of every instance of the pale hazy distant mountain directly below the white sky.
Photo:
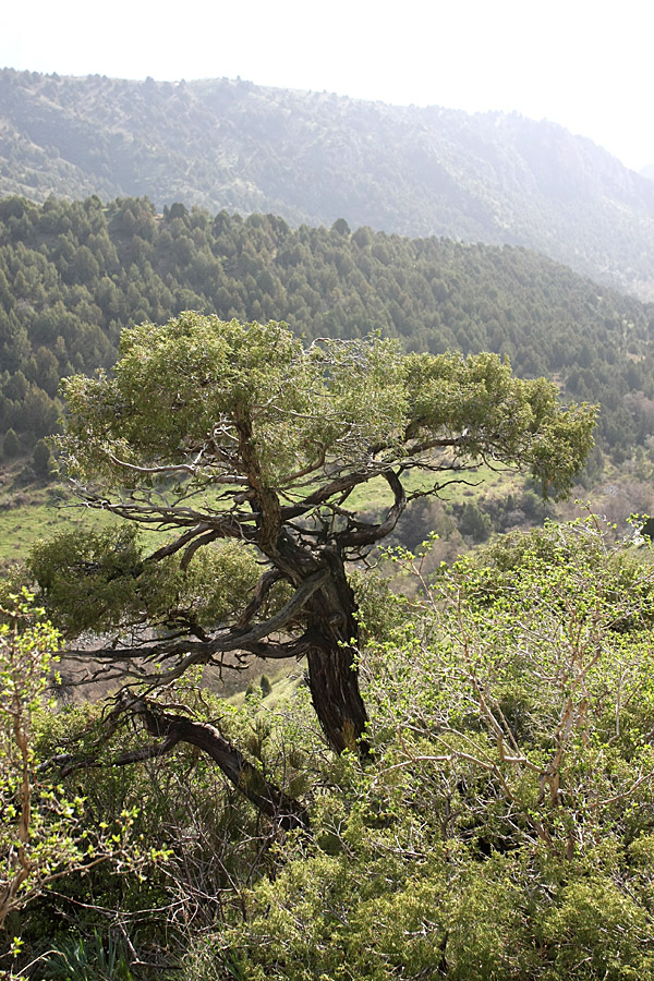
[[[516,114],[249,82],[0,72],[0,194],[148,195],[292,225],[526,245],[654,298],[654,185]]]

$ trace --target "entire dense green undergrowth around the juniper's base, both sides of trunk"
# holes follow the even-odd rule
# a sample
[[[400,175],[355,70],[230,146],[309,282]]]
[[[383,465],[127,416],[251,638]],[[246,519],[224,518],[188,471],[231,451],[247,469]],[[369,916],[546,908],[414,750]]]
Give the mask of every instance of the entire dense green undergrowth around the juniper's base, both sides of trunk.
[[[61,777],[95,828],[137,808],[144,860],[46,889],[7,921],[32,978],[631,979],[654,969],[652,588],[646,540],[598,519],[500,538],[402,594],[359,585],[372,755],[335,758],[304,685],[269,708],[185,702],[301,799],[282,832],[192,748]],[[413,583],[413,585],[411,585]],[[408,596],[411,595],[411,598]],[[108,707],[38,716],[35,752],[96,752]],[[156,849],[157,861],[147,853]],[[41,959],[34,962],[34,958]]]

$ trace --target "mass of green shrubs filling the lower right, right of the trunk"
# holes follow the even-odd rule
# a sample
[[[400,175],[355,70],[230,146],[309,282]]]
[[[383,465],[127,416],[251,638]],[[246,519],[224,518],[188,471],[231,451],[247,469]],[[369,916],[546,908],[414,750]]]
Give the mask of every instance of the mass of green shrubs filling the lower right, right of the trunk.
[[[608,532],[550,525],[421,578],[364,656],[374,760],[323,770],[311,839],[185,977],[649,977],[654,579]]]

